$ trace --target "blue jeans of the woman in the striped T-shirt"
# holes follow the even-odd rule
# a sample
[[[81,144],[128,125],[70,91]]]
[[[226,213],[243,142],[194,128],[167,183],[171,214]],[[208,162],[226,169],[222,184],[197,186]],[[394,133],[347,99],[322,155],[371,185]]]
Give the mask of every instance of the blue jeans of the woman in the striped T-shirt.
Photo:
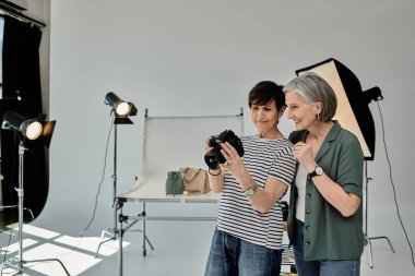
[[[205,276],[280,275],[282,250],[272,250],[215,229]]]

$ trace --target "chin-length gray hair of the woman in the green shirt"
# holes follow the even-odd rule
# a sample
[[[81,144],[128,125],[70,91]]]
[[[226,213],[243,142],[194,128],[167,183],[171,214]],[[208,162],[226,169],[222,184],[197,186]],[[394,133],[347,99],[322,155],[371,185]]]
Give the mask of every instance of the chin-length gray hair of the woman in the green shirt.
[[[310,105],[321,103],[322,110],[318,116],[320,122],[330,121],[337,109],[337,98],[333,88],[320,75],[306,72],[284,86],[283,92],[296,92]]]

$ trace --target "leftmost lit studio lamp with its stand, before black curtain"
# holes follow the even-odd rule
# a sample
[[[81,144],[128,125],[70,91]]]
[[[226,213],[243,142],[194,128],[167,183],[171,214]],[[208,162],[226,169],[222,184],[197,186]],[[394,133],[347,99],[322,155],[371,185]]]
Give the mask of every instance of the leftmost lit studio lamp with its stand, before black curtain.
[[[23,259],[23,209],[24,209],[24,152],[27,151],[25,142],[39,141],[46,147],[49,147],[51,135],[54,133],[56,121],[46,121],[46,115],[39,115],[33,119],[26,119],[24,116],[14,112],[5,111],[1,128],[11,130],[20,137],[19,142],[19,188],[15,189],[19,197],[19,257],[11,261],[5,261],[4,265],[16,269],[14,275],[23,273],[24,264],[35,262],[59,262],[67,275],[67,268],[58,259],[43,259],[25,261]]]

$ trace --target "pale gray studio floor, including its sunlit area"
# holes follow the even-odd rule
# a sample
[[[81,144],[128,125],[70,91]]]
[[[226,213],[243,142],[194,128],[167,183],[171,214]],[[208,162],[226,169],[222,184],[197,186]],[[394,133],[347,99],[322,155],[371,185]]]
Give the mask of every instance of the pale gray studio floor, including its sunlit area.
[[[25,225],[23,228],[23,260],[59,259],[70,275],[115,276],[120,275],[120,267],[122,267],[124,276],[198,276],[203,275],[214,226],[213,221],[147,223],[147,238],[155,249],[151,250],[147,243],[146,256],[143,256],[141,227],[134,226],[124,235],[121,263],[118,241],[104,243],[98,257],[95,259],[97,245],[100,242],[99,237],[80,239],[80,237],[69,237]],[[4,250],[9,242],[9,232],[1,233],[0,242]],[[8,260],[17,254],[17,237],[14,230],[8,247]],[[392,253],[386,240],[374,240],[374,267],[369,266],[369,248],[366,247],[361,257],[361,275],[415,275],[410,252],[401,250],[401,247],[395,248],[396,252]],[[58,262],[29,262],[24,266],[23,275],[66,275]],[[283,268],[287,269],[288,267]],[[4,267],[2,275],[12,275],[13,273],[13,269]]]

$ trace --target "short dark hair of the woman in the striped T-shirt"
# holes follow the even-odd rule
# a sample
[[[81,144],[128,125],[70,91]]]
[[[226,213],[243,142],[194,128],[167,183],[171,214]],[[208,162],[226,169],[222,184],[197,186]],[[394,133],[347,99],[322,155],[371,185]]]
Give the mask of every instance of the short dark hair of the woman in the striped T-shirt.
[[[248,105],[251,108],[252,105],[263,106],[271,100],[275,100],[276,110],[280,110],[285,106],[285,95],[283,93],[282,85],[277,85],[271,81],[262,81],[256,84],[249,92]]]

